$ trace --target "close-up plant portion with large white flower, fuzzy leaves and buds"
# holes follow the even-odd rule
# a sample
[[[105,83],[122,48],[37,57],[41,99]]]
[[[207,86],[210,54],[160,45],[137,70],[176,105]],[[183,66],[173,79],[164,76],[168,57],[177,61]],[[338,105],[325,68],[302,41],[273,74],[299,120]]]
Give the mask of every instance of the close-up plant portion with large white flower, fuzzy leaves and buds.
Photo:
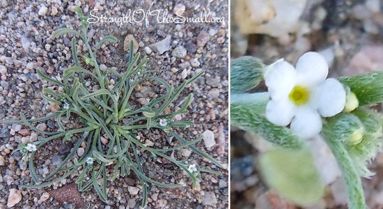
[[[383,101],[383,72],[327,78],[329,66],[317,52],[303,54],[295,67],[251,56],[230,67],[231,125],[274,144],[260,156],[266,183],[301,206],[320,199],[325,185],[308,148],[320,134],[341,169],[348,207],[367,208],[361,178],[374,174],[367,163],[383,136],[382,114],[369,107]]]

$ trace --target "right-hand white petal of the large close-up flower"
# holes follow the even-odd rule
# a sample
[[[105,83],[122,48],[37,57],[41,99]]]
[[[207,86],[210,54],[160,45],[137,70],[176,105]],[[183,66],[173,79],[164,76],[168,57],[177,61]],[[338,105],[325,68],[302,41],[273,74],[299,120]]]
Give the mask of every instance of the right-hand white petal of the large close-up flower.
[[[314,96],[318,112],[323,117],[335,116],[345,107],[346,91],[336,79],[329,78],[322,82]]]

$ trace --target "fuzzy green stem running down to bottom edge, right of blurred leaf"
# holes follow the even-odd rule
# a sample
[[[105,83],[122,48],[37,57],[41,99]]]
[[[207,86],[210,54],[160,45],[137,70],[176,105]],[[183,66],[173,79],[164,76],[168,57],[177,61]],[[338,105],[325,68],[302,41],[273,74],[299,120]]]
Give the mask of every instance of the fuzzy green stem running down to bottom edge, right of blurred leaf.
[[[354,167],[354,163],[350,155],[347,153],[345,146],[341,140],[338,140],[331,133],[326,132],[325,129],[322,132],[327,145],[331,149],[338,166],[342,171],[343,180],[347,190],[348,208],[350,209],[365,209],[366,200],[364,199],[363,187],[361,185],[361,178],[357,169]]]

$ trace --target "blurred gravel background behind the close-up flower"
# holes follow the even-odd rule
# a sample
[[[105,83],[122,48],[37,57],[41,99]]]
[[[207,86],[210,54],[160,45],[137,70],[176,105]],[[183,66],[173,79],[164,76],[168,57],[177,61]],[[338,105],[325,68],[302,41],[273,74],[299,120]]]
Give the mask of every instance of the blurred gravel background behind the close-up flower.
[[[302,15],[295,21],[297,27],[290,33],[279,36],[274,36],[272,32],[249,35],[241,33],[238,22],[231,22],[231,59],[251,55],[269,64],[285,58],[295,65],[299,56],[313,50],[322,53],[330,61],[330,77],[383,69],[383,1],[294,2],[301,2],[304,7]],[[231,6],[233,8],[237,4],[232,2]],[[289,8],[293,9],[296,8]],[[232,20],[235,20],[236,15],[247,14],[251,10],[232,9]],[[274,26],[274,32],[282,30],[283,25]],[[260,140],[235,127],[231,129],[230,208],[299,208],[269,189],[258,175],[257,156],[264,146]],[[383,155],[378,155],[370,164],[370,169],[377,174],[371,179],[363,179],[366,201],[370,208],[383,208],[382,159]],[[342,180],[337,178],[327,186],[325,197],[308,208],[347,208]]]

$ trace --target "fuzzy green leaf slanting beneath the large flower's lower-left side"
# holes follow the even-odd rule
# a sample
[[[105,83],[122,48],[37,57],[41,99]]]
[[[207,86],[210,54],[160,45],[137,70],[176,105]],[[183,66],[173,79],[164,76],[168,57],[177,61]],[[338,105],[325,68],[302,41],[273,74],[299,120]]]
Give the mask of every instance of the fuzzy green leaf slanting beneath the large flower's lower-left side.
[[[299,137],[283,126],[277,126],[267,121],[261,114],[256,113],[247,106],[230,104],[231,125],[241,127],[243,130],[253,131],[263,139],[284,148],[301,148],[303,143]]]

